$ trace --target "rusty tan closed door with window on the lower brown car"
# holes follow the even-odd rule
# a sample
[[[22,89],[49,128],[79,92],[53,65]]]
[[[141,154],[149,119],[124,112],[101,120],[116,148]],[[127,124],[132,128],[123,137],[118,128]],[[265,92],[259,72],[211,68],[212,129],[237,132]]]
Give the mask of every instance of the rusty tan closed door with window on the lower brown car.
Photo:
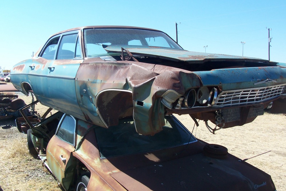
[[[49,169],[66,190],[73,176],[73,173],[68,173],[67,169],[73,169],[76,165],[76,160],[72,156],[72,152],[76,146],[76,124],[77,122],[74,117],[64,114],[55,135],[47,145],[46,154]]]

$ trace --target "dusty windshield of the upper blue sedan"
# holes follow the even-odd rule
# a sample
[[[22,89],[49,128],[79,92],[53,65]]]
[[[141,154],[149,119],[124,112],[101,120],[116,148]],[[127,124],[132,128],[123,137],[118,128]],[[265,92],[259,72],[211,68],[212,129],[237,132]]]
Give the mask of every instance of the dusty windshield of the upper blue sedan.
[[[160,31],[128,28],[96,28],[84,30],[86,57],[90,58],[108,55],[103,46],[109,45],[156,46],[182,49],[168,35]]]

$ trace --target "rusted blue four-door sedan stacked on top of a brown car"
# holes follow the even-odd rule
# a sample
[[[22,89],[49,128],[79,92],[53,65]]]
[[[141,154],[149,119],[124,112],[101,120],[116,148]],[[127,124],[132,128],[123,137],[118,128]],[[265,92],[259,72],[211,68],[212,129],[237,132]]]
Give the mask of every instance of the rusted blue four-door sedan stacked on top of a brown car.
[[[172,113],[204,120],[214,132],[253,121],[272,102],[286,112],[286,64],[189,52],[140,27],[61,31],[16,64],[11,80],[41,104],[101,127],[133,116],[143,135],[161,131]]]

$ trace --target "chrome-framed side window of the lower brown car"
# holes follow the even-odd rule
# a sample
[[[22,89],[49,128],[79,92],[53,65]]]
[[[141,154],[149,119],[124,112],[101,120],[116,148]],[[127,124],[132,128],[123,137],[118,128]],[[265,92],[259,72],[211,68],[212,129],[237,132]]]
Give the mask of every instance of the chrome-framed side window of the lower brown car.
[[[72,145],[75,143],[76,120],[70,116],[65,115],[56,133],[57,137]]]

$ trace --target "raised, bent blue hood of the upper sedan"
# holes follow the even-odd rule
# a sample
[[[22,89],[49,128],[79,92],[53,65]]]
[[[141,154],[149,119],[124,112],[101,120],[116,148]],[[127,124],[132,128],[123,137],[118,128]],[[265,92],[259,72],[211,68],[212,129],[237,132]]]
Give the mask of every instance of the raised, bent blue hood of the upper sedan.
[[[268,60],[260,58],[251,58],[244,56],[232,56],[226,54],[210,54],[203,52],[190,52],[182,49],[164,48],[164,47],[152,47],[152,46],[107,46],[104,49],[107,52],[121,53],[121,48],[124,48],[132,54],[138,54],[140,56],[153,56],[157,58],[164,58],[168,60],[176,61],[193,61],[193,62],[206,62],[210,59],[220,60],[248,60],[252,62],[269,63]],[[136,57],[136,55],[135,55]],[[274,62],[272,62],[274,64]],[[276,64],[276,62],[275,62]]]

